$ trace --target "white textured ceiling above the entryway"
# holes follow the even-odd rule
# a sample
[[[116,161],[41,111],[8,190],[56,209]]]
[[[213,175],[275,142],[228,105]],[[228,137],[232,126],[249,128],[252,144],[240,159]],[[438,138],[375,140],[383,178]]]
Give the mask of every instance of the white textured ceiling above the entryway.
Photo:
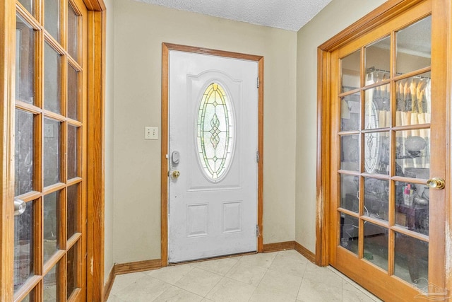
[[[208,16],[298,31],[331,0],[136,0]]]

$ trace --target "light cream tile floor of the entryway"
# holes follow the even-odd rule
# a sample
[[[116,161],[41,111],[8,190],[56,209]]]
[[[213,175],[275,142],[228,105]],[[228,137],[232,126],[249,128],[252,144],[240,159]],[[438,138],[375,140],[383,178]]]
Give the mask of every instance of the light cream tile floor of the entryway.
[[[332,267],[317,267],[295,250],[285,250],[118,275],[108,301],[380,300]]]

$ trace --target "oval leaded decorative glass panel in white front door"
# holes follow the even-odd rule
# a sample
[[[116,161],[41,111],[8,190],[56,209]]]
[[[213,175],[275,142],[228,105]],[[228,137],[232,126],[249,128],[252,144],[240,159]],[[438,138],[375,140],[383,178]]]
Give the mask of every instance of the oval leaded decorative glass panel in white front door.
[[[203,93],[198,110],[198,158],[206,176],[218,181],[232,160],[234,121],[225,90],[211,83]]]

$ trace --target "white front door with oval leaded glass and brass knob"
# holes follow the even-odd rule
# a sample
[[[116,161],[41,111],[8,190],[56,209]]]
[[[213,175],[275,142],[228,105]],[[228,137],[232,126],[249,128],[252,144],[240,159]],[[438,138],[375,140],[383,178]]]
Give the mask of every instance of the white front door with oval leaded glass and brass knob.
[[[257,249],[258,63],[169,52],[169,262]]]

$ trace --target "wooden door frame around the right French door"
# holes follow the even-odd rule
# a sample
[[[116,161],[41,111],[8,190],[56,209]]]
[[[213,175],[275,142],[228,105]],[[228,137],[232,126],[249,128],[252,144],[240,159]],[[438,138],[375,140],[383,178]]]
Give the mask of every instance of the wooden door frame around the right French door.
[[[389,0],[383,5],[376,8],[376,10],[367,14],[359,21],[353,23],[345,30],[338,33],[323,43],[318,47],[318,64],[317,64],[317,177],[316,177],[316,264],[321,266],[326,266],[329,264],[328,255],[331,248],[335,248],[330,245],[330,234],[329,225],[331,223],[331,74],[330,74],[330,57],[331,52],[337,50],[339,47],[347,44],[351,40],[364,35],[369,31],[373,30],[377,26],[385,23],[389,19],[397,16],[398,14],[406,11],[408,8],[415,6],[423,0]],[[449,149],[445,151],[446,157],[446,176],[447,176],[447,187],[446,187],[446,197],[444,204],[445,211],[445,232],[446,234],[446,272],[450,270],[451,260],[452,260],[452,248],[450,234],[452,233],[452,212],[451,212],[451,201],[450,201],[450,191],[451,191],[451,147],[450,142],[452,141],[452,131],[449,129],[451,127],[451,85],[452,85],[452,28],[451,28],[451,16],[452,16],[452,0],[444,0],[441,4],[433,4],[446,6],[443,9],[443,14],[441,22],[446,24],[444,33],[432,33],[432,36],[436,38],[442,38],[448,41],[446,50],[432,50],[433,55],[439,55],[446,62],[446,74],[444,88],[444,94],[446,95],[446,127],[447,127],[447,144]],[[452,289],[452,276],[446,276],[446,288],[451,291]]]

